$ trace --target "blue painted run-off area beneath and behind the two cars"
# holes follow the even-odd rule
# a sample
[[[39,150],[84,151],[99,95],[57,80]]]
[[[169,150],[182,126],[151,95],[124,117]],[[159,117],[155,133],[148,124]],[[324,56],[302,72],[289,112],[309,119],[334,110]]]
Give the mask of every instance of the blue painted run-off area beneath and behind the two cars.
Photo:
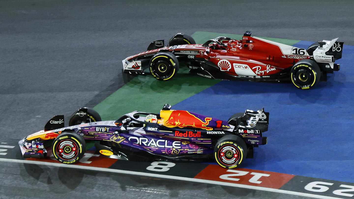
[[[294,46],[307,47],[310,41]],[[354,46],[344,45],[341,69],[327,82],[299,90],[293,84],[221,81],[173,109],[227,120],[246,109],[265,109],[268,144],[241,167],[354,183]]]

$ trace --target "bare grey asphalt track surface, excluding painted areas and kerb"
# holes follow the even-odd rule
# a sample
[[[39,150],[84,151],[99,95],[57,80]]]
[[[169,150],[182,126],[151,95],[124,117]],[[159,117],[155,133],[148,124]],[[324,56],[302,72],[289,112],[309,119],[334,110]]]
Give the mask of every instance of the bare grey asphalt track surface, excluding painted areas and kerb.
[[[353,1],[1,1],[0,142],[38,131],[55,114],[96,106],[127,81],[121,60],[153,40],[177,32],[251,30],[255,36],[304,41],[339,37],[354,45],[353,7]],[[1,198],[289,198],[211,184],[0,165]]]

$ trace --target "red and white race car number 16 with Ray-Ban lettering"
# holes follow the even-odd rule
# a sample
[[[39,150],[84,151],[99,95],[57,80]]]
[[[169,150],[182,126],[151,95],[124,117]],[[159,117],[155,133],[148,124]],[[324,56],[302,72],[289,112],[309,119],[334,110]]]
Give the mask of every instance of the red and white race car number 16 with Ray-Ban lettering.
[[[337,38],[338,39],[338,38]],[[152,42],[147,51],[122,61],[124,73],[151,73],[169,80],[185,62],[190,72],[211,79],[246,81],[292,81],[299,89],[309,89],[327,81],[327,73],[339,70],[334,62],[342,57],[343,42],[323,40],[301,49],[252,37],[246,31],[242,40],[224,36],[195,44],[186,34]]]

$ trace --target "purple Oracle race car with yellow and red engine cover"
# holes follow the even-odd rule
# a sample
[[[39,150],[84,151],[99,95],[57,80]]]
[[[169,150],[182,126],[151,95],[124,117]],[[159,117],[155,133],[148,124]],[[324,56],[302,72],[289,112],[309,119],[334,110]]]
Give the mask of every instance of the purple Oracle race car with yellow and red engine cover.
[[[136,161],[215,161],[231,169],[253,158],[253,147],[267,144],[269,113],[263,109],[236,113],[228,121],[170,110],[160,114],[132,112],[114,121],[101,121],[90,108],[80,108],[64,127],[64,116],[50,119],[44,130],[18,142],[24,158],[43,158],[47,149],[61,163],[78,162],[86,141],[97,141],[96,150],[110,158]]]

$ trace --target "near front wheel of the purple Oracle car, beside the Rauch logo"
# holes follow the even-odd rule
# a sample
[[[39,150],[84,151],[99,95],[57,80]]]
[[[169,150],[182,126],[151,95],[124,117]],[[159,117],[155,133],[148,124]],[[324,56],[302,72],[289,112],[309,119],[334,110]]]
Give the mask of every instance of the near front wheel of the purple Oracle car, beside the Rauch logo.
[[[53,155],[64,164],[78,162],[86,151],[84,138],[73,131],[64,131],[53,141]]]

